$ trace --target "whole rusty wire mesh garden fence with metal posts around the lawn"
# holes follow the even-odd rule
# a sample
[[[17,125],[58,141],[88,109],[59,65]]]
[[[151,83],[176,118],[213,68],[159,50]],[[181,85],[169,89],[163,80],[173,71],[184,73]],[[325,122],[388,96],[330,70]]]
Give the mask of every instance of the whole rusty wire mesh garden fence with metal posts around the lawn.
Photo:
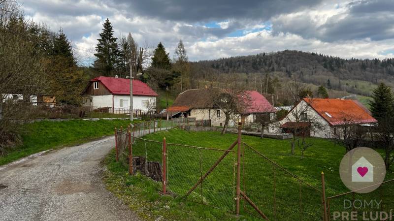
[[[174,144],[165,138],[163,141],[141,138],[177,126],[204,126],[197,122],[159,120],[116,130],[116,158],[129,168],[130,174],[138,171],[161,182],[164,194],[237,215],[242,210],[269,221],[330,221],[343,199],[354,201],[357,195],[349,192],[326,197],[323,173],[321,187],[308,184],[242,142],[241,125],[237,140],[227,150]],[[379,196],[385,209],[393,208],[394,189],[390,186],[393,183],[388,181],[378,191],[357,197]]]

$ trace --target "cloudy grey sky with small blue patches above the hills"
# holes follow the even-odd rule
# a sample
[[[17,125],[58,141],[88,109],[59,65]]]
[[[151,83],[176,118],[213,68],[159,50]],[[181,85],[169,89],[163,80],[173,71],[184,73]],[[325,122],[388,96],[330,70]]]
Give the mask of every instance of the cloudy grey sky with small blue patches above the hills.
[[[140,44],[182,39],[191,61],[285,49],[342,58],[394,56],[394,0],[21,0],[25,14],[64,29],[81,56],[102,23]]]

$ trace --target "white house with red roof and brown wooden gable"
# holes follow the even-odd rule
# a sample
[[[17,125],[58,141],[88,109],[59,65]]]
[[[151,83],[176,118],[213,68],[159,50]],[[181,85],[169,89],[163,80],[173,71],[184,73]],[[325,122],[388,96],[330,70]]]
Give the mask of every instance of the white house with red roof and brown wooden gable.
[[[90,80],[83,95],[87,95],[85,106],[108,108],[109,112],[124,113],[130,109],[130,79],[97,77]],[[132,80],[133,110],[153,112],[159,96],[147,84]]]

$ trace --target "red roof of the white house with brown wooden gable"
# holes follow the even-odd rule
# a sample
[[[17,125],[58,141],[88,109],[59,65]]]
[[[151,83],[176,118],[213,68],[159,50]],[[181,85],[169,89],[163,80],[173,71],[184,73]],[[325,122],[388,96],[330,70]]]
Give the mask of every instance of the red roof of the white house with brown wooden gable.
[[[114,95],[130,95],[130,79],[100,76],[90,81],[100,81]],[[159,96],[147,84],[134,79],[132,80],[132,94],[144,96]]]

